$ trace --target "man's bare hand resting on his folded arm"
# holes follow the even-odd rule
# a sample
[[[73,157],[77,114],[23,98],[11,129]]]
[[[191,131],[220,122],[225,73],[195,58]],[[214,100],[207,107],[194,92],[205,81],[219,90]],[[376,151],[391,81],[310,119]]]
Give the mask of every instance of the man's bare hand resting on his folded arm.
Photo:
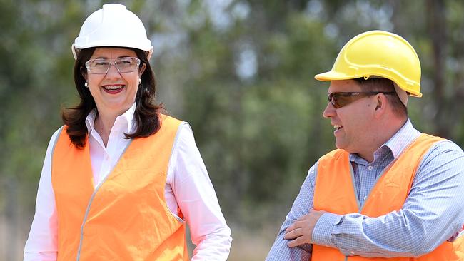
[[[323,210],[309,210],[309,213],[295,220],[293,224],[287,228],[286,235],[283,237],[288,242],[288,247],[298,247],[298,245],[311,244],[313,240],[313,230],[316,222],[321,215],[326,213]]]

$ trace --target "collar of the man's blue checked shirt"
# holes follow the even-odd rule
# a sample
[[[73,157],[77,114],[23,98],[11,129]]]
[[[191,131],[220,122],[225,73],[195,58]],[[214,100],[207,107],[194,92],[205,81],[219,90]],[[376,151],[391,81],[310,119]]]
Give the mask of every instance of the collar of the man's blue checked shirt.
[[[413,123],[408,121],[401,127],[395,135],[393,135],[386,143],[380,146],[377,150],[375,150],[374,158],[377,158],[377,155],[388,153],[388,150],[393,155],[393,158],[398,158],[398,156],[403,152],[403,150],[408,147],[410,143],[418,138],[420,132],[413,127]],[[358,154],[350,153],[350,161],[358,162],[362,158],[358,156]],[[362,159],[363,160],[363,159]],[[365,161],[365,160],[363,160]]]

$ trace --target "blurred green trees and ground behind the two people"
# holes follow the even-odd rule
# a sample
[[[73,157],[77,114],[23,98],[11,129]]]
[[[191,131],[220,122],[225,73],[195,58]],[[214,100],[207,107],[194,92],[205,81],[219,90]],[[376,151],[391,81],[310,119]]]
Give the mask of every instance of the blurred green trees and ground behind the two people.
[[[46,146],[77,101],[71,44],[108,2],[0,0],[0,260],[22,260]],[[193,128],[233,231],[229,260],[266,257],[308,168],[334,148],[328,83],[313,76],[363,31],[410,41],[423,72],[410,118],[463,148],[463,1],[114,2],[146,26],[158,101]]]

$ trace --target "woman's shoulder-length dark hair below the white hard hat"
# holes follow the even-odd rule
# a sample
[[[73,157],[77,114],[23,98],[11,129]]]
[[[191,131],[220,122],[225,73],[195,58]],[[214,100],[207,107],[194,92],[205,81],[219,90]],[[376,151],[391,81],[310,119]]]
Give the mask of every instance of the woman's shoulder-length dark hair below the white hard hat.
[[[74,84],[81,101],[75,107],[64,108],[61,112],[61,118],[67,126],[66,133],[71,139],[71,143],[77,148],[84,148],[87,126],[87,115],[96,108],[94,97],[91,96],[89,88],[84,86],[86,79],[86,61],[89,61],[96,47],[85,48],[79,51],[74,63]],[[156,133],[161,128],[159,113],[163,110],[163,104],[156,104],[156,78],[151,69],[150,63],[146,57],[146,52],[136,48],[128,48],[136,52],[137,57],[141,60],[140,68],[143,63],[146,64],[145,71],[141,75],[141,84],[138,86],[136,94],[136,110],[134,119],[136,121],[136,130],[133,133],[124,133],[126,138],[148,137]]]

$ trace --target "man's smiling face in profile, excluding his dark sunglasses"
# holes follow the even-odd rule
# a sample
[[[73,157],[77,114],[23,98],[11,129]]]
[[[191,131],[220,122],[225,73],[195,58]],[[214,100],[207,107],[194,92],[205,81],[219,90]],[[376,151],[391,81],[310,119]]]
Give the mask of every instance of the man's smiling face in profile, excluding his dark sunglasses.
[[[328,88],[328,93],[361,91],[359,83],[353,80],[332,81]],[[336,128],[333,132],[336,147],[349,153],[358,153],[361,157],[368,155],[375,144],[374,110],[373,96],[365,96],[341,108],[334,108],[329,102],[323,116],[331,119],[331,124]]]

